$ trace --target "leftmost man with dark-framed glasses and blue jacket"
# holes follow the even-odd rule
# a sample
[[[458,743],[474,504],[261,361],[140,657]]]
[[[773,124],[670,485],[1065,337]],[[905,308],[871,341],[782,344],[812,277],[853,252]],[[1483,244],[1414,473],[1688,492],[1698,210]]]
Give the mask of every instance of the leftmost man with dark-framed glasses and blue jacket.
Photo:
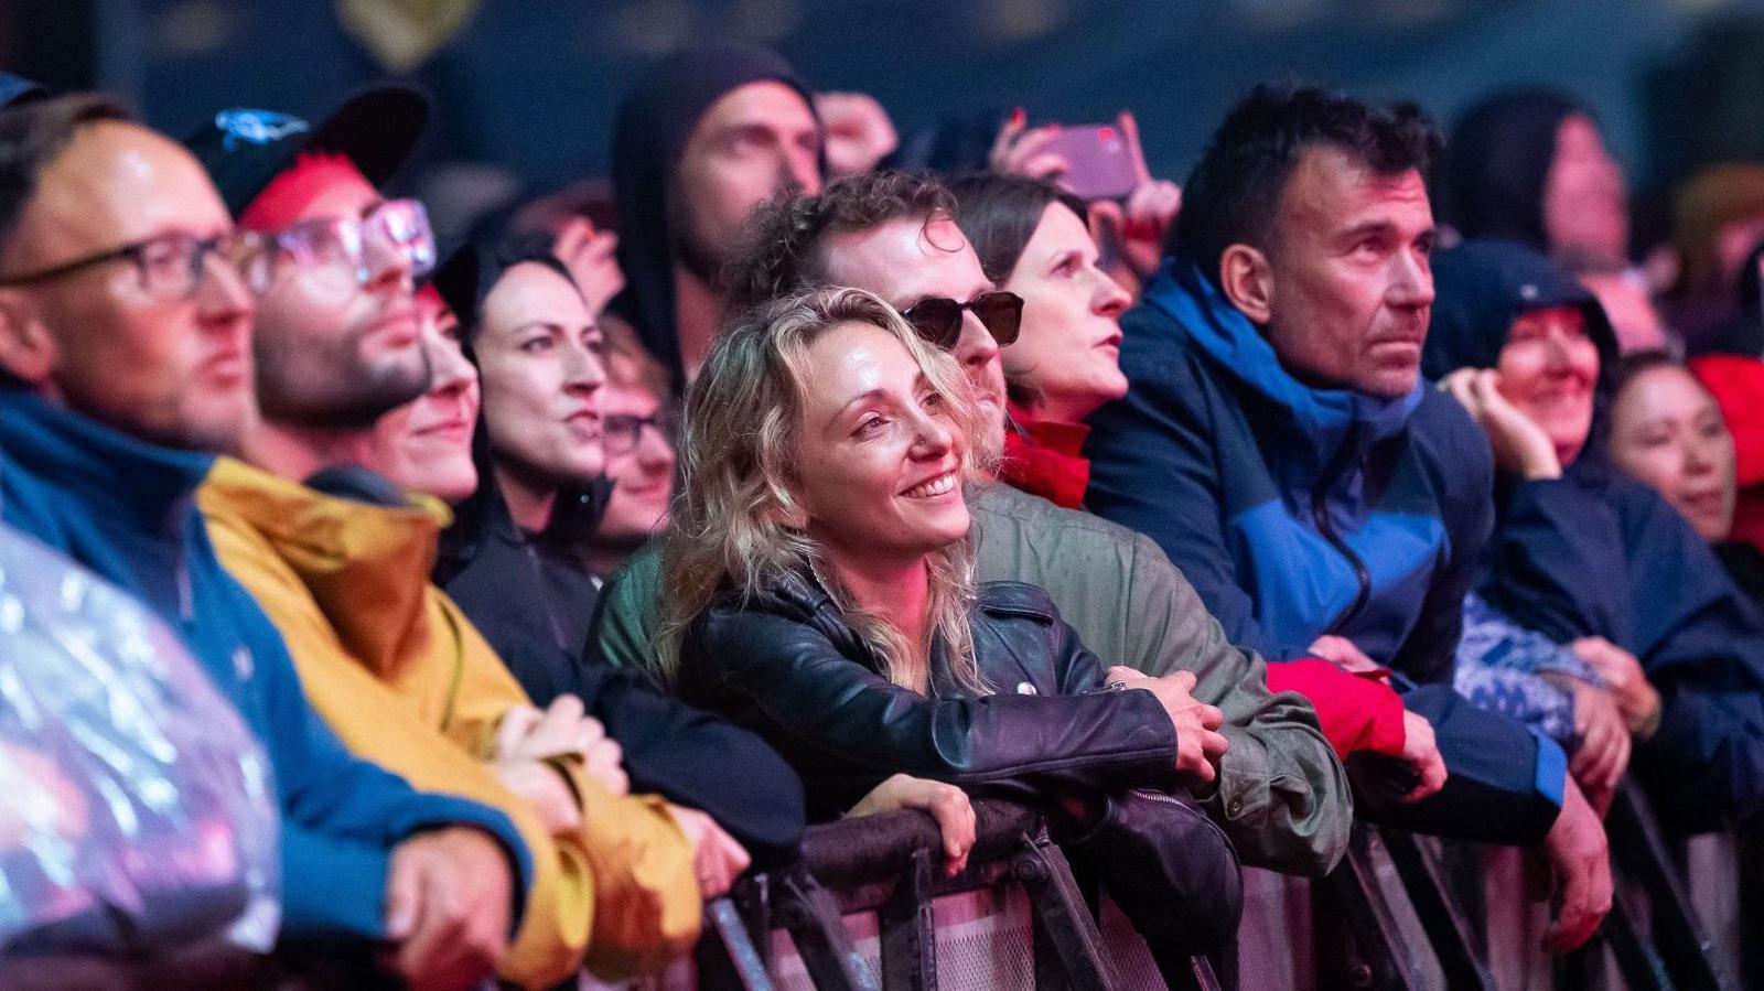
[[[249,249],[201,166],[113,104],[0,111],[0,518],[157,610],[263,739],[284,940],[469,987],[524,905],[513,823],[351,758],[194,508],[192,451],[256,416]]]

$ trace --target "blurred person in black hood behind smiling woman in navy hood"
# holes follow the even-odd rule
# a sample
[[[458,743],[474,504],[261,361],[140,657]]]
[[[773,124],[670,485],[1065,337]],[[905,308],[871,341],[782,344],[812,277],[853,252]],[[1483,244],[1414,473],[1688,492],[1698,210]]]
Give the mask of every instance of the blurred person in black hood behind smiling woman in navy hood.
[[[1508,90],[1469,108],[1446,141],[1439,189],[1445,219],[1464,238],[1628,257],[1623,169],[1593,113],[1554,90]]]

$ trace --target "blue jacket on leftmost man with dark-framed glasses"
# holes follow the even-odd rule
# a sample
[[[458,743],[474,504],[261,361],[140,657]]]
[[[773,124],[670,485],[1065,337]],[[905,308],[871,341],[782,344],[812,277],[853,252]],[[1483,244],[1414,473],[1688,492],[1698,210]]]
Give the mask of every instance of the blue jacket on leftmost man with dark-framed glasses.
[[[0,518],[162,615],[263,741],[282,813],[286,936],[383,938],[392,848],[445,825],[503,843],[522,905],[531,857],[503,813],[411,790],[351,756],[307,707],[280,633],[208,543],[194,492],[212,464],[0,388]]]

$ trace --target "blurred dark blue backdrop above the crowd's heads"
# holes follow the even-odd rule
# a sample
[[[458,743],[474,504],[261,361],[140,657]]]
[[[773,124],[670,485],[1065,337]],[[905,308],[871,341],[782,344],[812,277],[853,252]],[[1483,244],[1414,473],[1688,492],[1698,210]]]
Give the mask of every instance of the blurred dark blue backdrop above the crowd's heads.
[[[455,4],[469,19],[406,72],[342,16]],[[367,81],[416,79],[441,118],[406,183],[430,194],[602,175],[619,95],[688,39],[771,44],[818,88],[878,97],[903,136],[940,113],[1132,108],[1154,171],[1177,180],[1261,79],[1409,99],[1441,122],[1499,85],[1547,83],[1596,109],[1646,201],[1697,164],[1764,159],[1760,23],[1764,0],[0,0],[0,65],[115,90],[173,134],[226,106],[310,116]]]

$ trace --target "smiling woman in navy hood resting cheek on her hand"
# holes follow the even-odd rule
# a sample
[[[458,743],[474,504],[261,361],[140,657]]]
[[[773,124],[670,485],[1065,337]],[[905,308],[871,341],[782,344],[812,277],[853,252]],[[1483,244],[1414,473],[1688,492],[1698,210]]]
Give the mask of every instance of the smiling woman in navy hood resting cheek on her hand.
[[[1626,688],[1632,767],[1669,825],[1755,823],[1764,626],[1685,517],[1607,458],[1618,344],[1596,298],[1512,243],[1445,252],[1436,275],[1424,369],[1499,466],[1484,596]]]

